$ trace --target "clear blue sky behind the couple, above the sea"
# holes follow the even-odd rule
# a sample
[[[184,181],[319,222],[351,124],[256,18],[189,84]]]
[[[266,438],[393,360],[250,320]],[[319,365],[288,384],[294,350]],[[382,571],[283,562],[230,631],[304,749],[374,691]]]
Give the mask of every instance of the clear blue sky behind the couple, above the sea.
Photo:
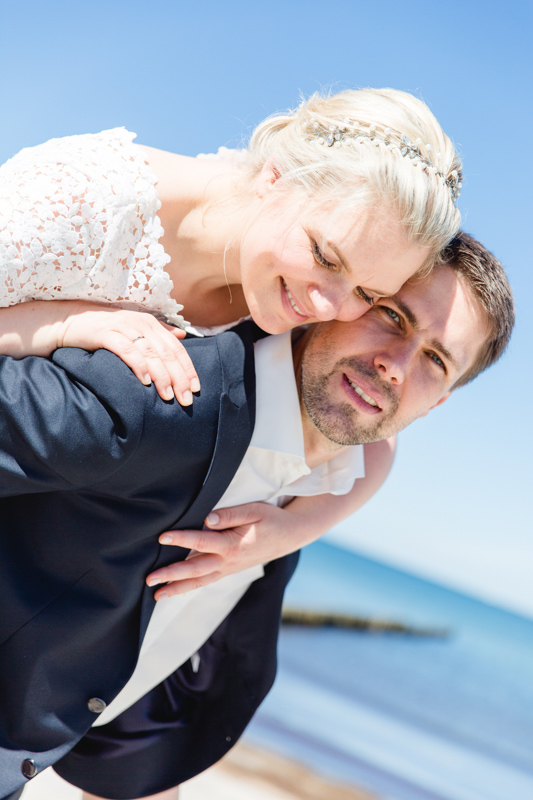
[[[533,616],[533,4],[390,0],[0,0],[0,161],[125,125],[189,155],[239,145],[323,87],[392,86],[463,156],[464,227],[508,269],[518,324],[501,363],[400,439],[348,545]]]

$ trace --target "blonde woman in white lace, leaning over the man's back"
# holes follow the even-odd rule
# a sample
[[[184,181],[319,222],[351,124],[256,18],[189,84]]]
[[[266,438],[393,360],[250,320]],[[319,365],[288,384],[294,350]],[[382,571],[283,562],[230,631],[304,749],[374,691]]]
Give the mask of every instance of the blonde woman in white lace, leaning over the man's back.
[[[180,304],[203,332],[248,315],[274,334],[353,320],[431,268],[459,227],[458,156],[404,92],[314,95],[217,157],[133,138],[53,139],[0,168],[0,352],[105,347],[190,404],[200,386]],[[392,448],[365,447],[366,478],[343,497],[220,512],[211,527],[231,535],[204,535],[202,555],[150,584],[187,591],[312,541],[375,491]],[[194,536],[174,531],[173,543],[195,548]]]

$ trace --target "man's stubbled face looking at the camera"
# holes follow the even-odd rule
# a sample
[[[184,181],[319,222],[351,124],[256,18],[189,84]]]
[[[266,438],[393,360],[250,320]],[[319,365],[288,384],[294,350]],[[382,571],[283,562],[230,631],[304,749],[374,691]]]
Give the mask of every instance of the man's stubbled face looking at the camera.
[[[449,396],[486,337],[469,290],[440,265],[360,319],[309,331],[301,362],[304,424],[343,445],[392,436]]]

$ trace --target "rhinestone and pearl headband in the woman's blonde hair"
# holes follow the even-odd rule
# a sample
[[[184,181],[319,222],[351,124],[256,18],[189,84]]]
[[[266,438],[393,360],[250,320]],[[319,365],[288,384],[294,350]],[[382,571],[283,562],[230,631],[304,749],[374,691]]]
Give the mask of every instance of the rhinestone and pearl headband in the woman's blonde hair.
[[[359,126],[364,126],[365,129],[357,130]],[[344,142],[355,144],[359,141],[362,144],[363,141],[369,140],[371,142],[375,141],[376,144],[383,144],[389,150],[397,150],[404,158],[410,158],[414,167],[422,164],[427,170],[441,178],[450,190],[454,203],[461,194],[462,174],[456,169],[452,170],[449,175],[441,172],[429,158],[433,148],[430,144],[423,144],[422,139],[416,139],[411,142],[407,136],[399,136],[392,128],[382,128],[375,124],[367,125],[366,123],[349,119],[345,119],[340,126],[330,125],[327,128],[315,119],[311,119],[311,127],[311,138],[326,147],[339,147]],[[427,155],[422,154],[422,148]],[[441,157],[441,153],[437,153],[437,160]]]

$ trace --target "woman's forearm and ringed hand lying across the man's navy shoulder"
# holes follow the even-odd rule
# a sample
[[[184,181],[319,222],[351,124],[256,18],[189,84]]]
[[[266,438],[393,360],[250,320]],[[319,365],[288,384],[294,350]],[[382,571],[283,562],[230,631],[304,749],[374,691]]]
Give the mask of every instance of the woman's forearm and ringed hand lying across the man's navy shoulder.
[[[184,332],[151,314],[81,300],[37,300],[0,309],[0,353],[49,356],[58,347],[104,348],[164,400],[192,403],[200,383],[179,339]]]

